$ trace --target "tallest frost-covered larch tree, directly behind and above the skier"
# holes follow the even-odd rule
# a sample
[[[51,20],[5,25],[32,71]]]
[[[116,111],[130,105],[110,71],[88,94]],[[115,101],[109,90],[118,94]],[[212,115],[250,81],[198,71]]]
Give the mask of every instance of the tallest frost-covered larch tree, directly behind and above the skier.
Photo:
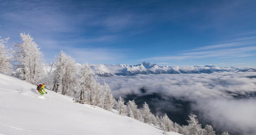
[[[16,47],[17,76],[32,84],[37,84],[43,73],[43,53],[29,34],[21,33],[22,43]]]

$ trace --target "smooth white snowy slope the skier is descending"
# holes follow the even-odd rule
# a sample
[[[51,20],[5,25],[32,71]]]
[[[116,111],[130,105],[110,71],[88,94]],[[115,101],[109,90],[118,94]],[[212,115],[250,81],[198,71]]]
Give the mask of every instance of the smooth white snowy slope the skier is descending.
[[[163,135],[151,125],[50,90],[41,98],[35,85],[10,76],[0,74],[0,86],[0,135]]]

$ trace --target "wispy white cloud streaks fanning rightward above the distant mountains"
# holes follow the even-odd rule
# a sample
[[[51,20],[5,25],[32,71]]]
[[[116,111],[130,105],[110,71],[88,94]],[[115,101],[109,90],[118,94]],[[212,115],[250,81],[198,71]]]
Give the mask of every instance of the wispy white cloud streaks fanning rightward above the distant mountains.
[[[172,56],[155,56],[143,60],[184,60],[184,59],[202,59],[202,58],[232,58],[256,56],[256,37],[244,37],[237,42],[208,45],[191,50],[186,53],[177,53]]]

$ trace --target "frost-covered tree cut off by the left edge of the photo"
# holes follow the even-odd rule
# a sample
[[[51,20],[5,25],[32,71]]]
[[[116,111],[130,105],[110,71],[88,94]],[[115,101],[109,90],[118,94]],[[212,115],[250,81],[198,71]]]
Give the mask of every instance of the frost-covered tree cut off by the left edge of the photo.
[[[7,49],[6,42],[9,38],[1,39],[0,37],[0,73],[10,75],[12,72],[12,59],[13,51],[12,48]]]

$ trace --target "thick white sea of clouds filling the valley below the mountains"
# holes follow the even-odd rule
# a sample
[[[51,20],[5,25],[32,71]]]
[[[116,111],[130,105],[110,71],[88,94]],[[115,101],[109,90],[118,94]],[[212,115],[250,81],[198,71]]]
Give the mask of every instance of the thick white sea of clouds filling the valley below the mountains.
[[[201,121],[209,121],[217,129],[253,135],[256,134],[256,78],[246,76],[256,73],[149,74],[99,77],[98,81],[109,84],[115,98],[159,93],[163,98],[190,101]]]

